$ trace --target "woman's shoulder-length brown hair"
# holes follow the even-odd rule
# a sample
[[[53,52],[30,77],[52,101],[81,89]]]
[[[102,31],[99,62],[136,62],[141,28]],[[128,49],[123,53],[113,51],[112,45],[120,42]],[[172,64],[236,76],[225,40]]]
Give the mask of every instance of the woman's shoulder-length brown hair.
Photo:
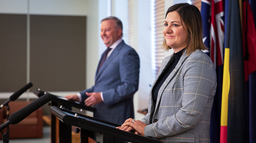
[[[180,15],[182,26],[182,21],[187,25],[187,55],[194,52],[196,49],[207,50],[208,48],[203,42],[203,22],[199,9],[196,6],[189,5],[188,3],[178,3],[168,8],[166,16],[172,11],[176,11]],[[171,47],[166,44],[165,39],[162,47],[167,51],[171,49]]]

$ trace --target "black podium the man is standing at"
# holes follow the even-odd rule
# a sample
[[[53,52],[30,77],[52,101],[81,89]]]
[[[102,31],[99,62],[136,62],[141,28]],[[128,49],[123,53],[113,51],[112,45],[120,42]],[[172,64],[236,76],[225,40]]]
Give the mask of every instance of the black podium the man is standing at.
[[[32,90],[32,93],[36,94],[38,97],[43,96],[46,92],[42,90]],[[48,93],[49,94],[49,93]],[[72,107],[76,107],[78,109],[96,112],[97,109],[93,107],[85,106],[84,104],[77,101],[69,101],[65,97],[55,96],[53,94],[49,94],[51,96],[51,106],[64,106],[65,109],[72,110]],[[56,134],[56,129],[59,129],[59,135]],[[71,143],[72,140],[72,126],[68,124],[64,124],[63,122],[59,122],[59,119],[56,116],[51,115],[51,142],[67,142]]]

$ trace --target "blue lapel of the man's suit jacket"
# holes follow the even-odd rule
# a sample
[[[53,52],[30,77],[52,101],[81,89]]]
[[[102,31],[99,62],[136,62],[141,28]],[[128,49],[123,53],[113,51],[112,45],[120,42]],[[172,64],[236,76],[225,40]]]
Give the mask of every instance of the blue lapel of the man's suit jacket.
[[[100,77],[102,72],[106,69],[106,67],[108,67],[108,65],[114,60],[114,58],[117,57],[117,55],[119,54],[119,50],[122,49],[124,44],[125,42],[122,41],[120,44],[117,45],[117,47],[115,47],[115,49],[112,51],[108,59],[106,59],[105,63],[102,65],[100,71],[98,71],[98,73],[96,74],[95,81],[98,79],[98,77]]]

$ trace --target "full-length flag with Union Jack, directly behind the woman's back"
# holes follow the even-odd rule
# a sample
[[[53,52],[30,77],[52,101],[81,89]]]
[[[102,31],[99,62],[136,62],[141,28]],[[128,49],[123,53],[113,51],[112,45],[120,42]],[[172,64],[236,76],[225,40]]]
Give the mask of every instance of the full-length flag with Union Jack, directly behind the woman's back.
[[[216,67],[217,91],[214,96],[210,116],[210,142],[220,142],[221,91],[224,53],[224,1],[201,1],[203,20],[203,41],[209,51],[207,54]]]

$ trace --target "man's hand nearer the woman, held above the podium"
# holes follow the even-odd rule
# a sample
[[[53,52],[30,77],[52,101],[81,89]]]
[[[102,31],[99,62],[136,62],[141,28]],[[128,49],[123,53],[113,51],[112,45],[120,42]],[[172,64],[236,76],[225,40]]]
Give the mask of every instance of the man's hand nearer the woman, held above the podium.
[[[96,105],[97,103],[102,102],[101,93],[100,93],[100,92],[92,92],[92,93],[86,92],[85,94],[86,94],[87,96],[89,96],[89,97],[84,101],[84,103],[85,103],[86,106],[94,106],[94,105]]]

